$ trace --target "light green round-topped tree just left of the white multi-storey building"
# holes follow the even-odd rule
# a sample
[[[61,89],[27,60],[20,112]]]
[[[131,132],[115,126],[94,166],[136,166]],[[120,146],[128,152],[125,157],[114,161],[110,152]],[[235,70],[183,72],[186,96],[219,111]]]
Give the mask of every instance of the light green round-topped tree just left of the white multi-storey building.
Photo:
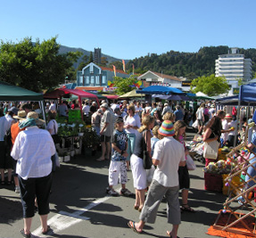
[[[193,93],[202,92],[203,94],[214,96],[227,94],[229,86],[226,78],[215,77],[214,74],[211,74],[208,77],[202,76],[192,80],[191,90]]]

